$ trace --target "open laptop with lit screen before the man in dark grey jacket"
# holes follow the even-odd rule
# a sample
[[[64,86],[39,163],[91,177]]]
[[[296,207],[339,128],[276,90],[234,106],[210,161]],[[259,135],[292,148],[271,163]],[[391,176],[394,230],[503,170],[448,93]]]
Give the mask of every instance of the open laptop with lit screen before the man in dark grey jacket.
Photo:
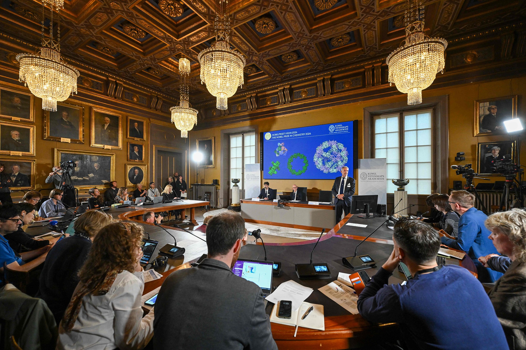
[[[266,298],[272,292],[273,266],[273,261],[237,259],[232,272],[238,277],[259,285]]]

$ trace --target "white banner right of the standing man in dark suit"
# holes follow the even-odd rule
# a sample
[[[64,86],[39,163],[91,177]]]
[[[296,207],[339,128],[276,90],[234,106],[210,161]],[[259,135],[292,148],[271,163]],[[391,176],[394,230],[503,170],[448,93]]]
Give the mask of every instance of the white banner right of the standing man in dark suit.
[[[387,204],[386,158],[358,160],[358,192],[360,196],[378,195],[378,204]]]

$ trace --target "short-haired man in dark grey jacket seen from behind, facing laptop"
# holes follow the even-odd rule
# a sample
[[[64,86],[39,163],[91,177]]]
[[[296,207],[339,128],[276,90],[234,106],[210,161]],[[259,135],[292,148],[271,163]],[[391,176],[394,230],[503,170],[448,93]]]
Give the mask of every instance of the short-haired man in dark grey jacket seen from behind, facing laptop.
[[[159,290],[155,350],[277,350],[261,288],[232,273],[245,232],[245,221],[232,211],[208,222],[208,258],[171,273]]]

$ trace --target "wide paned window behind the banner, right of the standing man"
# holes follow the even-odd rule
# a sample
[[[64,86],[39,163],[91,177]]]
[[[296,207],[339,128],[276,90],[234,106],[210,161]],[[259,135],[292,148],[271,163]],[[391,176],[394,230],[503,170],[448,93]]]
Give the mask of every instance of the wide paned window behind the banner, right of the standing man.
[[[432,110],[374,118],[375,158],[387,160],[387,192],[397,189],[389,179],[407,178],[409,194],[431,194],[431,121]]]

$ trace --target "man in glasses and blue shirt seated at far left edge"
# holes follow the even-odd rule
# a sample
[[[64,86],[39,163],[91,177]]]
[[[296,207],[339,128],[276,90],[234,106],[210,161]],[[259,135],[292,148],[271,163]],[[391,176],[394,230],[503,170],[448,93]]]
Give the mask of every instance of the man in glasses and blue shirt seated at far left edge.
[[[4,280],[4,262],[9,269],[29,271],[43,263],[46,260],[47,252],[54,246],[53,244],[40,249],[16,254],[13,249],[9,247],[9,242],[4,236],[17,231],[18,226],[22,224],[18,213],[18,208],[12,203],[0,206],[0,283]],[[31,261],[25,263],[24,261],[27,260]]]

